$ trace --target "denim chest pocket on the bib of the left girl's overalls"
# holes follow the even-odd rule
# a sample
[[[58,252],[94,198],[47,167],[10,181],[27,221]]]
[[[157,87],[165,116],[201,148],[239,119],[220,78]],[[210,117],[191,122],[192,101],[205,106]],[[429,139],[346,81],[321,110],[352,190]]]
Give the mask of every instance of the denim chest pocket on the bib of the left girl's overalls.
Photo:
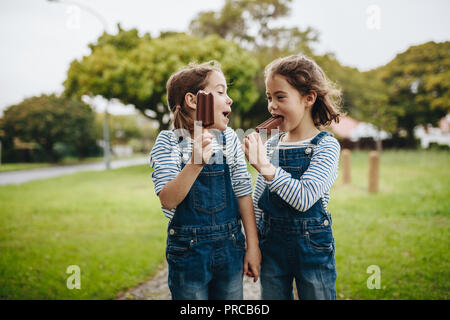
[[[203,170],[193,185],[194,209],[213,214],[226,207],[225,171]]]

